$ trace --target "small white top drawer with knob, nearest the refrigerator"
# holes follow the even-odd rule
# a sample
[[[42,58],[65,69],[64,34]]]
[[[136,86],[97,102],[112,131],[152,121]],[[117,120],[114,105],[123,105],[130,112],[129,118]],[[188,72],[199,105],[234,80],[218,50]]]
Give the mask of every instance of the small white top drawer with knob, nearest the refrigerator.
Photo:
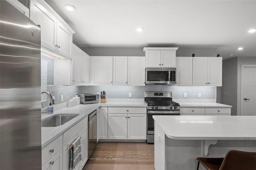
[[[42,165],[44,165],[52,156],[62,148],[62,135],[54,139],[51,143],[42,149]]]

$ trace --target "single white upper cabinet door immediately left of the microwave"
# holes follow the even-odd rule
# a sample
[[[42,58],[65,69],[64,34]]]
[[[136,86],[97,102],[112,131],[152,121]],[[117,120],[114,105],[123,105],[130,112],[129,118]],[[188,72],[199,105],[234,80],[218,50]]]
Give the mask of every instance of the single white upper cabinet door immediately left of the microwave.
[[[128,57],[128,86],[145,86],[145,57]]]

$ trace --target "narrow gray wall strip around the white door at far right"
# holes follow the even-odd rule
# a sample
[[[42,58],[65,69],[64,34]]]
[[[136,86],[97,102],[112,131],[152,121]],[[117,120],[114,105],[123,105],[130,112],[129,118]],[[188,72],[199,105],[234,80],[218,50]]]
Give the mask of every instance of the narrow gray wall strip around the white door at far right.
[[[238,57],[237,63],[237,115],[241,115],[241,65],[256,64],[256,57]]]

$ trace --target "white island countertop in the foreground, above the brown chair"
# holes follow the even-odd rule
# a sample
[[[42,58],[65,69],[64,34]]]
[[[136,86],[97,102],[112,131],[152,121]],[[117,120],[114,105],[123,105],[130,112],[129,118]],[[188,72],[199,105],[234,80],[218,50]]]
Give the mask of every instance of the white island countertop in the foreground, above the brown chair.
[[[256,140],[256,116],[164,116],[154,120],[170,139]]]

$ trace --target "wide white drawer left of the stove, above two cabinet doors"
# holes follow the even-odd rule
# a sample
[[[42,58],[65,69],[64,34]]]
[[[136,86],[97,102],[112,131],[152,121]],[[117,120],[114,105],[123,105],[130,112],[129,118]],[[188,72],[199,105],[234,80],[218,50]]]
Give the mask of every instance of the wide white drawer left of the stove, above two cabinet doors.
[[[108,107],[108,113],[140,113],[146,114],[146,107]]]

